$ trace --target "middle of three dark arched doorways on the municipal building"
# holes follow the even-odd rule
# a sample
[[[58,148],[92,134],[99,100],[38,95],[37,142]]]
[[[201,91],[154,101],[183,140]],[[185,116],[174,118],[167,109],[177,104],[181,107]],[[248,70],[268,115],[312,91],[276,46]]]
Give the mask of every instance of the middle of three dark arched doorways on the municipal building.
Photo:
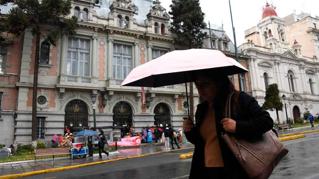
[[[113,107],[113,126],[132,124],[132,108],[125,102],[120,101]]]

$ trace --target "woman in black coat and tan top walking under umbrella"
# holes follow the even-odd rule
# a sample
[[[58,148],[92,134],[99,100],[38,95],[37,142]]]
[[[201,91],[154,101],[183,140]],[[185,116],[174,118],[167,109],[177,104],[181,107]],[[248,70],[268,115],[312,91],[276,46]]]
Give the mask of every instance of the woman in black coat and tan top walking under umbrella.
[[[194,126],[192,120],[183,123],[188,141],[195,145],[189,178],[241,179],[249,178],[230,148],[221,138],[222,132],[239,138],[253,138],[271,130],[273,120],[249,94],[235,91],[227,76],[205,70],[196,74],[195,85],[203,102],[197,106]],[[231,100],[231,118],[224,118],[224,105]]]

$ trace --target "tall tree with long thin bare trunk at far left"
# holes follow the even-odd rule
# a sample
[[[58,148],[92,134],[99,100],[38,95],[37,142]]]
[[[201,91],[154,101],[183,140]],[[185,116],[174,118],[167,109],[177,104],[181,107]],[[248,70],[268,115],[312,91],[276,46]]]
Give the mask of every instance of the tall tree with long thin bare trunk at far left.
[[[30,30],[36,37],[33,101],[32,101],[32,141],[36,145],[37,125],[37,88],[40,59],[40,38],[55,46],[61,34],[75,34],[77,17],[63,18],[70,14],[71,0],[0,0],[0,8],[13,5],[8,14],[2,15],[5,20],[0,22],[0,32],[20,36]],[[1,12],[1,9],[0,9]],[[4,39],[0,39],[3,41]]]

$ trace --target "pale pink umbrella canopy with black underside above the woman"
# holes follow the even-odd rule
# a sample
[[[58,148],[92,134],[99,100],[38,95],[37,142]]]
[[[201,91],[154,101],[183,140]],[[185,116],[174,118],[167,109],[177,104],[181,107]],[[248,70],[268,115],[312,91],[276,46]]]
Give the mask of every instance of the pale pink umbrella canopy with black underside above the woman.
[[[215,75],[248,72],[218,50],[175,50],[134,68],[121,86],[160,87],[193,82],[196,71],[204,69],[212,69]]]

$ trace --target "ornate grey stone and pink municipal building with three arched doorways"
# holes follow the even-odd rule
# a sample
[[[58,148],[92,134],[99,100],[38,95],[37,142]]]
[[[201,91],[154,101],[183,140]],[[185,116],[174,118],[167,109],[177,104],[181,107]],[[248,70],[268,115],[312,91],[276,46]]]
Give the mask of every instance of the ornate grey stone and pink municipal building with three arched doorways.
[[[3,8],[2,13],[10,8],[10,5]],[[183,117],[187,117],[184,84],[145,87],[146,98],[150,101],[148,105],[142,104],[140,87],[120,86],[134,67],[175,49],[184,49],[174,45],[173,34],[169,30],[170,17],[160,2],[100,0],[95,4],[92,0],[74,0],[71,14],[65,18],[73,15],[78,17],[78,29],[74,37],[63,35],[56,46],[48,45],[41,38],[37,95],[38,141],[51,141],[54,134],[63,133],[64,126],[93,126],[92,95],[97,95],[98,127],[131,123],[135,132],[154,124],[171,124],[175,129],[181,128]],[[216,26],[212,29],[212,36],[216,43],[213,48],[234,58],[234,45],[225,31]],[[0,123],[10,125],[6,127],[9,132],[3,131],[4,126],[1,125],[0,134],[8,138],[8,144],[31,141],[35,37],[26,31],[23,39],[14,39],[17,42],[7,45],[5,74],[0,74],[0,79],[9,81],[9,86],[4,84],[4,88],[1,88],[4,91],[3,101],[14,101],[10,106],[3,103],[1,106],[3,112]],[[211,48],[209,36],[205,38],[204,47]],[[13,56],[16,65],[10,61]],[[245,67],[248,67],[248,60],[248,56],[240,55],[240,62]],[[14,70],[11,71],[12,67]],[[230,78],[239,88],[237,76]],[[244,82],[244,91],[251,92],[249,75],[242,74],[241,80]],[[197,105],[195,86],[194,96]]]

